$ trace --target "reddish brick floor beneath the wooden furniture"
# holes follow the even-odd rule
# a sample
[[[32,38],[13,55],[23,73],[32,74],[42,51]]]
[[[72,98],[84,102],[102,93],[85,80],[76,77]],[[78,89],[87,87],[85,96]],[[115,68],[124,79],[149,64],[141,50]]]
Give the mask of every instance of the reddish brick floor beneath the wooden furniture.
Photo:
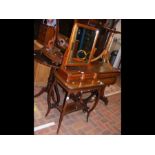
[[[41,87],[35,87],[34,93],[38,92]],[[110,88],[111,91],[118,87]],[[109,93],[108,90],[107,92]],[[63,98],[63,92],[61,92]],[[89,121],[86,122],[86,113],[81,111],[73,112],[65,115],[60,127],[59,135],[119,135],[121,134],[121,94],[115,94],[108,97],[109,103],[107,106],[102,101],[99,101],[97,107],[89,116]],[[36,135],[55,135],[60,113],[56,109],[52,109],[47,117],[47,94],[35,98],[35,127],[49,122],[55,122],[55,126],[48,127],[36,131]]]

